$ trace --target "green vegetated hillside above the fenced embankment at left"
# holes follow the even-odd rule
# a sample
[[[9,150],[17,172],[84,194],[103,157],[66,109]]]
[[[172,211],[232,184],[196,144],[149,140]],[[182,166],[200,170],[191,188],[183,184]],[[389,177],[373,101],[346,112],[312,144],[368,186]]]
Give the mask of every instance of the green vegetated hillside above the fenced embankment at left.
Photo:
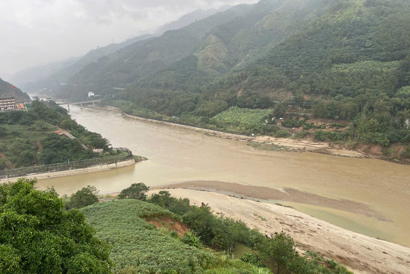
[[[69,130],[78,140],[58,135],[59,128]],[[113,153],[106,139],[78,125],[54,102],[33,101],[27,111],[0,112],[0,170],[97,157],[79,141]]]

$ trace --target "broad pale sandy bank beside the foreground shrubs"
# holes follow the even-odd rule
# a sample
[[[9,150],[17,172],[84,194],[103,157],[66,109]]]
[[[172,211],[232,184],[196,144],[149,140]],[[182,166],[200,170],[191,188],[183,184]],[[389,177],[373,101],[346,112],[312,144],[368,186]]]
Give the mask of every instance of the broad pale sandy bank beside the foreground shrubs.
[[[192,189],[167,189],[192,204],[206,201],[214,213],[241,220],[262,233],[289,233],[299,250],[313,250],[345,264],[355,273],[410,273],[410,248],[352,232],[295,209],[225,194]],[[157,192],[153,190],[151,192]]]

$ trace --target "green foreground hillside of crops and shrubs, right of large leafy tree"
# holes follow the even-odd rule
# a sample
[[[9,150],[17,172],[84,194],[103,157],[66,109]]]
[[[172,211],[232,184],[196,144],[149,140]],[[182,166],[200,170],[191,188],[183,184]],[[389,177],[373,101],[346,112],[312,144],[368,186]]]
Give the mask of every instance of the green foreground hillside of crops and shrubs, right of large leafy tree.
[[[133,191],[146,200],[144,193],[149,188],[136,188],[140,185],[144,186],[133,184],[121,194]],[[264,237],[240,221],[214,216],[206,204],[191,206],[189,199],[173,198],[167,191],[153,194],[146,201],[119,198],[81,209],[96,229],[96,236],[112,246],[110,259],[115,264],[114,272],[350,273],[335,261],[313,252],[298,256],[292,238],[284,233]],[[155,220],[160,228],[147,220]],[[173,229],[182,222],[190,230],[179,237]],[[240,260],[235,260],[232,253],[235,246],[250,253],[242,253]],[[272,248],[281,253],[276,261],[271,258]]]

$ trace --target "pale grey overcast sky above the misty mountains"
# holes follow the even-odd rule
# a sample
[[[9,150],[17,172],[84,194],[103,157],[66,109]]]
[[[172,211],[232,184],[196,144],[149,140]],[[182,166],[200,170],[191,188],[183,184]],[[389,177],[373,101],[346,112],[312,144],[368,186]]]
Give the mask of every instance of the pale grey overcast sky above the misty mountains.
[[[0,0],[0,77],[84,55],[196,9],[255,0]]]

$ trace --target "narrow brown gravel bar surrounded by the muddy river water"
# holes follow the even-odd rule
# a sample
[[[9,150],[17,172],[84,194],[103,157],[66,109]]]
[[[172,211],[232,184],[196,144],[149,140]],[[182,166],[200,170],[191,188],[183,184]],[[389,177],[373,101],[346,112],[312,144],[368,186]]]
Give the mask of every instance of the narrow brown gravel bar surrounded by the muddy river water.
[[[155,188],[186,188],[229,194],[238,198],[245,197],[260,200],[289,201],[360,213],[368,217],[375,217],[380,221],[392,221],[363,203],[350,200],[326,198],[317,194],[303,192],[293,188],[268,188],[216,181],[185,182],[179,184],[162,185]]]

